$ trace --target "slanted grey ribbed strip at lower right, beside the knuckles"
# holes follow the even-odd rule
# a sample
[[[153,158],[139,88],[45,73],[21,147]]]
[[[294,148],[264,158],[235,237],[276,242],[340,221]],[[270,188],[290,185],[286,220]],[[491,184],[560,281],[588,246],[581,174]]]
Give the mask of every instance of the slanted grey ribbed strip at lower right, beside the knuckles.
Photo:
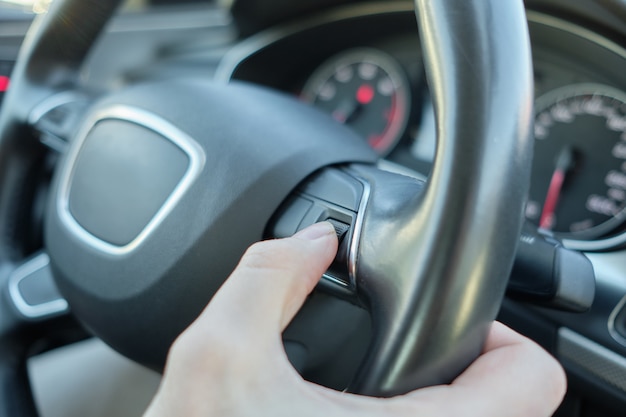
[[[625,357],[565,327],[559,329],[557,353],[560,358],[626,392]]]

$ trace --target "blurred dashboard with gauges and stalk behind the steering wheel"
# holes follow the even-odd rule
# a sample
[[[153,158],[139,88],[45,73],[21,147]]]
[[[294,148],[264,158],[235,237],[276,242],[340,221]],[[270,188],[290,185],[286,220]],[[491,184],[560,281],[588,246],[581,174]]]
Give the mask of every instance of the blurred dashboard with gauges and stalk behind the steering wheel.
[[[614,14],[603,26],[602,14],[585,19],[577,5],[552,3],[527,10],[536,100],[525,215],[586,253],[596,300],[583,314],[506,300],[500,319],[566,367],[570,392],[558,415],[618,416],[626,406],[626,21]],[[0,100],[30,18],[9,23],[0,26]],[[435,114],[411,2],[320,9],[245,38],[210,3],[129,12],[81,81],[97,95],[181,76],[280,90],[352,127],[388,169],[425,178],[432,168]]]

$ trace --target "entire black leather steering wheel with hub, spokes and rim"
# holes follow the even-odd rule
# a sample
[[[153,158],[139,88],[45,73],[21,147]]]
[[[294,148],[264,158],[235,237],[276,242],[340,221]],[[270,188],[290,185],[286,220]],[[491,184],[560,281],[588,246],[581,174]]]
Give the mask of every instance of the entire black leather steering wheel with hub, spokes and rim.
[[[66,302],[95,335],[160,368],[247,246],[326,219],[342,243],[321,285],[372,318],[349,390],[391,396],[465,369],[498,312],[528,188],[522,1],[416,0],[437,115],[425,183],[378,169],[349,130],[258,86],[149,82],[94,98],[77,74],[119,2],[56,0],[2,106],[0,414],[36,415],[25,361],[71,327]],[[64,155],[45,254],[25,258],[38,139]]]

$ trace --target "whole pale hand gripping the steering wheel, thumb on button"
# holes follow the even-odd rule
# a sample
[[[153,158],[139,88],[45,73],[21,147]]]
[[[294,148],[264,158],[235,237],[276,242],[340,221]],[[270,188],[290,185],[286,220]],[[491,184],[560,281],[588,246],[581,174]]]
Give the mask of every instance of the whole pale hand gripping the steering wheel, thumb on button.
[[[558,362],[497,322],[482,355],[450,385],[382,399],[302,379],[281,334],[336,251],[326,222],[251,246],[172,346],[145,416],[547,417],[556,410],[566,386]]]

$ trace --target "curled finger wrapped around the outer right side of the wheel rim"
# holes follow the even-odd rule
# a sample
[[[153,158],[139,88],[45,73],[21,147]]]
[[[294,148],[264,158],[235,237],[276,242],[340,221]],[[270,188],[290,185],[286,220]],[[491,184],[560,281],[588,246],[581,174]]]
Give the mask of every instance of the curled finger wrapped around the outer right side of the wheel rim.
[[[494,323],[484,353],[450,386],[418,391],[430,404],[458,404],[467,416],[551,416],[566,380],[558,362],[530,339]]]

